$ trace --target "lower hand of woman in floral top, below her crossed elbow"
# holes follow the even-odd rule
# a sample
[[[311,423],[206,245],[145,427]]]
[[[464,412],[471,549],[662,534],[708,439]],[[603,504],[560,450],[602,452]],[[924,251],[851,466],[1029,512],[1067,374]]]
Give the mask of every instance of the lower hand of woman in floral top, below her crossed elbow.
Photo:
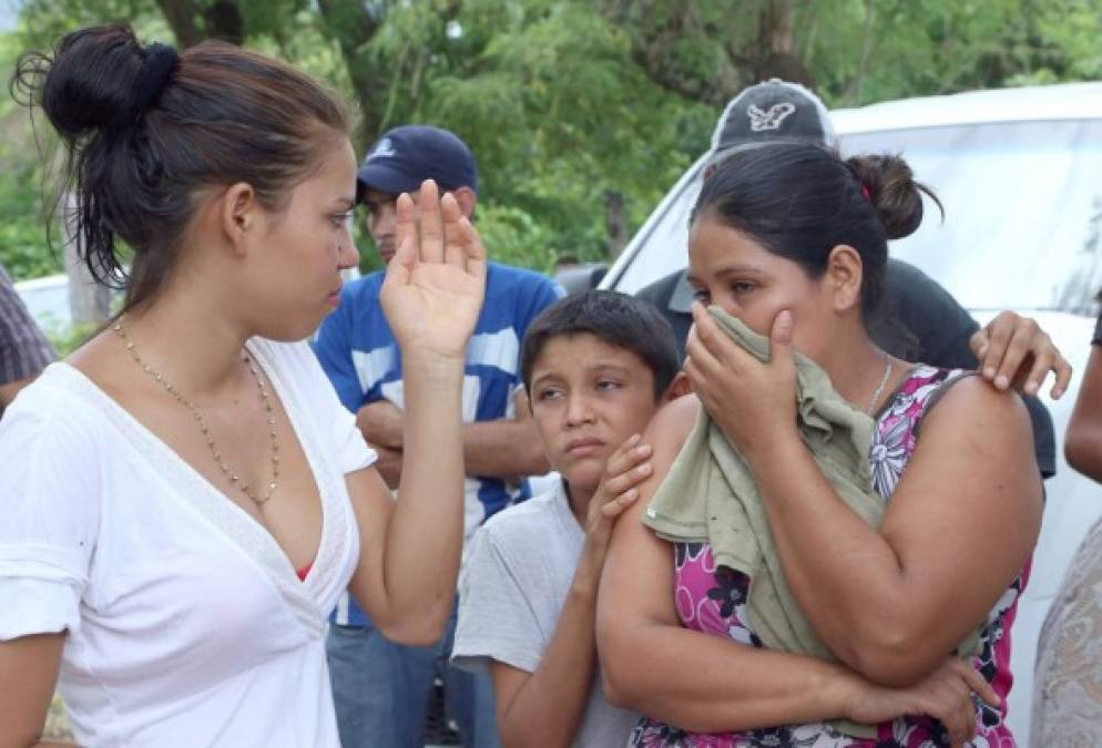
[[[904,716],[926,715],[946,728],[953,748],[976,737],[976,703],[997,706],[999,695],[975,667],[960,657],[945,662],[909,688],[886,688],[860,683],[846,715],[861,725],[877,725]]]

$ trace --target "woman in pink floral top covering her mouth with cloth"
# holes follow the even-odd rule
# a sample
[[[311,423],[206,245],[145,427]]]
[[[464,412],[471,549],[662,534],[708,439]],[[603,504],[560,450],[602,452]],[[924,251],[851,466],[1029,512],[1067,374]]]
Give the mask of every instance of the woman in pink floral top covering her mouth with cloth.
[[[866,329],[922,192],[901,158],[790,142],[737,147],[704,182],[696,397],[644,437],[654,475],[599,602],[605,693],[647,716],[630,745],[1013,745],[1029,418]]]

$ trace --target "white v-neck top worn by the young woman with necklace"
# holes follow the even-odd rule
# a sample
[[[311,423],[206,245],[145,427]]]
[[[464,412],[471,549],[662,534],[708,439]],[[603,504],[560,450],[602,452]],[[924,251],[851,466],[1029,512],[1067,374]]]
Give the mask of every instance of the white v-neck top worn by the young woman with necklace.
[[[60,690],[81,745],[339,745],[324,633],[359,556],[344,475],[375,452],[306,344],[249,349],[322,495],[305,582],[73,367],[50,366],[0,420],[0,641],[68,629]]]

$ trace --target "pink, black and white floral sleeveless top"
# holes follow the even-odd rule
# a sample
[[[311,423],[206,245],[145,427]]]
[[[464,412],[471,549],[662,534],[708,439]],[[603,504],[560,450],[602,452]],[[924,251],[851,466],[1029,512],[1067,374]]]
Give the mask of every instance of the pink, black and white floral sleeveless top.
[[[935,395],[958,380],[962,371],[928,366],[911,369],[904,383],[877,416],[869,450],[873,488],[890,499],[915,451],[919,423]],[[674,544],[674,600],[686,628],[726,636],[747,646],[762,641],[746,624],[749,577],[726,566],[716,567],[707,543]],[[1029,577],[1029,564],[1014,580],[988,616],[981,635],[982,650],[973,665],[999,694],[1002,704],[991,707],[977,701],[977,735],[973,746],[1012,748],[1013,736],[1006,726],[1007,694],[1010,693],[1010,626],[1018,598]],[[839,715],[840,716],[840,715]],[[948,746],[945,728],[929,717],[905,717],[877,726],[876,739],[857,739],[825,723],[788,725],[737,734],[704,735],[677,729],[643,718],[629,739],[639,748],[933,748]]]

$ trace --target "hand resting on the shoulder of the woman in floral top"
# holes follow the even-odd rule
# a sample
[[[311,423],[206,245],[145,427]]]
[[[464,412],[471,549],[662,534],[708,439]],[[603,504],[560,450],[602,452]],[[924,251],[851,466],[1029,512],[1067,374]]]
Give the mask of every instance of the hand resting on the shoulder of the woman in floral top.
[[[980,361],[983,378],[1000,390],[1012,386],[1022,395],[1037,395],[1050,371],[1055,377],[1052,398],[1068,390],[1071,365],[1030,317],[1003,311],[977,330],[968,345]]]

